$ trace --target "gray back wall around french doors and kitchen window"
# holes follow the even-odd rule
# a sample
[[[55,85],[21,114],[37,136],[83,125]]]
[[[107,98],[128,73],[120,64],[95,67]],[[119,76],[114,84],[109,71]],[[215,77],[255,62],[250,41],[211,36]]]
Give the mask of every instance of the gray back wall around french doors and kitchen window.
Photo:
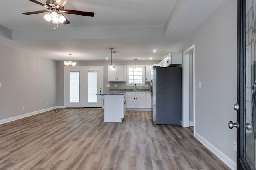
[[[126,86],[126,82],[109,82],[108,81],[108,65],[110,65],[110,61],[76,61],[77,66],[103,66],[104,67],[104,80],[103,80],[103,92],[108,92],[110,88],[128,88],[132,89],[132,86]],[[158,64],[160,61],[137,61],[137,65],[150,65],[150,64]],[[113,61],[112,61],[113,64]],[[115,65],[135,65],[135,61],[115,61]],[[110,88],[106,87],[106,84],[110,84]],[[117,87],[115,87],[115,84]],[[145,86],[137,86],[138,89],[149,89],[150,82],[146,82],[148,84],[148,88]],[[64,66],[63,61],[57,62],[57,104],[58,106],[64,106]]]

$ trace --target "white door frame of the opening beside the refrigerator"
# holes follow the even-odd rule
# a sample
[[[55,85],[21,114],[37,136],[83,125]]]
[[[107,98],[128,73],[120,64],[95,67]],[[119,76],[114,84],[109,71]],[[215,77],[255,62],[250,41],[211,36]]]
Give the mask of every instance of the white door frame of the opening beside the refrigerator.
[[[189,127],[189,53],[193,50],[192,67],[193,67],[193,125],[194,135],[196,130],[196,45],[192,45],[183,52],[183,69],[182,69],[182,126]]]

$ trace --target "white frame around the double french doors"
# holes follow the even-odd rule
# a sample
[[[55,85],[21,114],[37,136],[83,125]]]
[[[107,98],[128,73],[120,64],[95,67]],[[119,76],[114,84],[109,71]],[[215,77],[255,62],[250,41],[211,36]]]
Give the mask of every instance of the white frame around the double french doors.
[[[70,68],[70,67],[65,67],[64,68],[64,108],[66,108],[66,88],[67,88],[67,86],[66,86],[66,72],[67,72],[67,69],[68,68]],[[75,68],[101,68],[102,70],[101,70],[101,74],[102,74],[102,92],[104,92],[104,82],[103,82],[103,80],[104,80],[104,66],[76,66]],[[104,100],[103,100],[103,98],[101,99],[101,108],[104,108]]]

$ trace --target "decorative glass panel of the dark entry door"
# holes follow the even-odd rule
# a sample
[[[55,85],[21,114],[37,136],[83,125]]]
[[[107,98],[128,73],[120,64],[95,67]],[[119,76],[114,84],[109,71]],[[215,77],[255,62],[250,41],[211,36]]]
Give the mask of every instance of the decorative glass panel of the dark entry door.
[[[244,125],[244,158],[253,170],[255,164],[255,125],[256,125],[256,76],[255,76],[255,47],[256,47],[256,1],[246,0],[246,53],[245,53],[245,118]],[[247,124],[246,124],[247,123]],[[252,128],[251,128],[252,127]]]

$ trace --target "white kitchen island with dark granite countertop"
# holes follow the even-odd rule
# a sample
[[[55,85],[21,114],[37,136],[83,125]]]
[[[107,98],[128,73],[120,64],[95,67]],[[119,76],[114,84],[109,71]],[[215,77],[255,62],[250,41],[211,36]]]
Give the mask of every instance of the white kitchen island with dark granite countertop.
[[[125,92],[100,93],[104,99],[104,122],[122,122],[126,111]]]

